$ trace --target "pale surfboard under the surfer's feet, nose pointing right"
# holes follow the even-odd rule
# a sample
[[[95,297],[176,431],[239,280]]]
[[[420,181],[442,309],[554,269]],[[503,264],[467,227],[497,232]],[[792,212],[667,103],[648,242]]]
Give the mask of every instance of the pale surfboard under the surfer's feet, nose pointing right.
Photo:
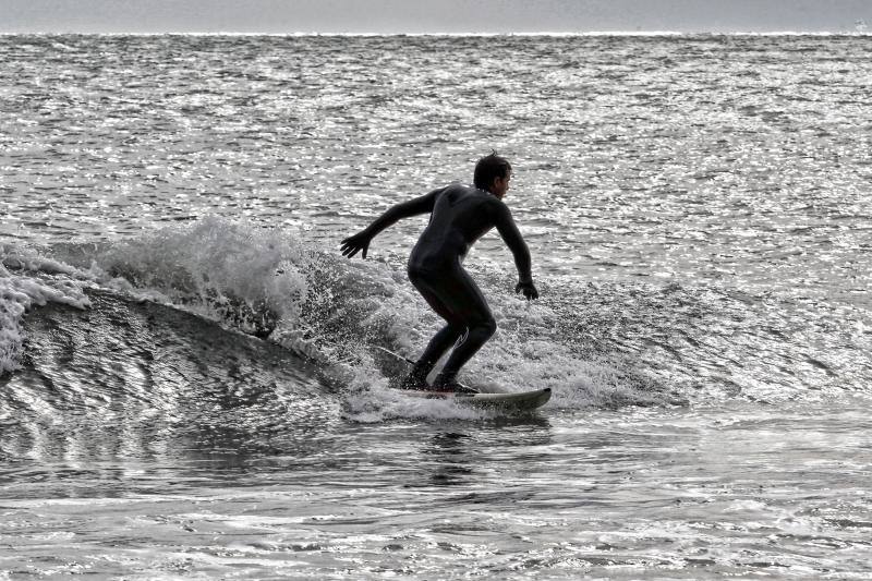
[[[384,347],[376,347],[377,361],[383,373],[391,379],[399,379],[409,373],[413,361],[395,353]],[[465,387],[465,386],[464,386]],[[403,396],[425,399],[448,400],[458,406],[491,409],[501,412],[523,412],[540,408],[552,398],[549,387],[528,391],[496,391],[494,388],[477,388],[477,394],[455,394],[453,391],[435,391],[431,389],[401,389],[391,387]]]

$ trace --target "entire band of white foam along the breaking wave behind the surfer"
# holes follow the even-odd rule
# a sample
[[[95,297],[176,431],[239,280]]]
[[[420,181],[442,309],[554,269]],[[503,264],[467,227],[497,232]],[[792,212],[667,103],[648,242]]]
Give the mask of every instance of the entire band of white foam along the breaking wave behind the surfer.
[[[349,261],[277,229],[208,217],[98,251],[89,270],[40,256],[16,256],[8,264],[13,261],[51,282],[7,277],[4,361],[14,361],[21,348],[17,322],[24,310],[46,301],[81,306],[82,285],[99,283],[244,331],[256,323],[252,318],[272,317],[269,339],[316,362],[328,383],[351,394],[347,412],[356,421],[481,417],[448,402],[401,397],[387,389],[372,360],[373,346],[415,359],[444,325],[407,280],[402,257]],[[499,330],[464,367],[462,379],[506,391],[549,387],[550,407],[656,403],[656,394],[627,382],[625,370],[616,367],[620,363],[581,356],[561,335],[565,315],[547,299],[526,303],[501,274],[476,271],[474,278]]]

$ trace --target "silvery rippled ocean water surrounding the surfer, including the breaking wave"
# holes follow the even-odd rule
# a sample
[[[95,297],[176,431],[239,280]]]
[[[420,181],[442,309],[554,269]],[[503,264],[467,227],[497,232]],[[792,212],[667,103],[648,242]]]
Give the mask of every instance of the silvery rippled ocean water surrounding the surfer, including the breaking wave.
[[[0,579],[868,579],[872,37],[0,36]],[[467,267],[500,416],[387,389]]]

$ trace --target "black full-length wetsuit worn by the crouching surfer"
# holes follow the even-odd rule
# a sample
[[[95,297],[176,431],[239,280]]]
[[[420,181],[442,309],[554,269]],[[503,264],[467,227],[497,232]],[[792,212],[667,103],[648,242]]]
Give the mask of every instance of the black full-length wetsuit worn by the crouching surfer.
[[[470,246],[496,227],[514,255],[520,282],[532,285],[530,251],[502,201],[461,184],[398,204],[367,230],[372,238],[401,218],[426,213],[431,213],[429,223],[409,256],[409,279],[447,325],[429,341],[415,367],[426,376],[457,343],[441,371],[452,378],[497,327],[482,291],[463,269]]]

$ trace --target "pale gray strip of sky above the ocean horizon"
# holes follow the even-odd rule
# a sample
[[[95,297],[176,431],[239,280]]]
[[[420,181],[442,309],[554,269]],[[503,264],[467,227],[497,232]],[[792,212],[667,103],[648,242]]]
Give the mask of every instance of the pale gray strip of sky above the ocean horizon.
[[[0,0],[0,33],[872,32],[872,0]]]

